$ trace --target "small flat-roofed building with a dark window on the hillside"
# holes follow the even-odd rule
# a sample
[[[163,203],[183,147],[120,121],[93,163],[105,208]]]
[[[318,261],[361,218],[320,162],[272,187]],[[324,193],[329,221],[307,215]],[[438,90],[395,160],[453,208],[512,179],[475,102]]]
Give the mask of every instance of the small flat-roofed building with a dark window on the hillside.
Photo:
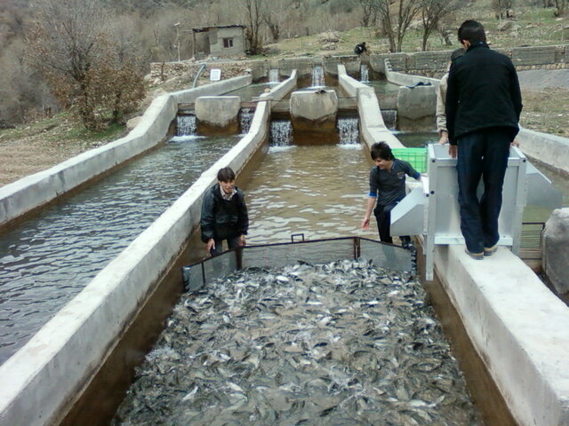
[[[244,26],[192,28],[194,58],[212,55],[220,58],[245,54]]]

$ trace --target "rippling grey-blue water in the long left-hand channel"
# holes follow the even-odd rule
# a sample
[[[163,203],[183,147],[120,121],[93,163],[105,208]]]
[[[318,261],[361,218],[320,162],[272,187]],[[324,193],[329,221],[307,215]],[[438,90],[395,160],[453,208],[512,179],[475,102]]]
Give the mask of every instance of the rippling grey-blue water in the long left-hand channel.
[[[176,137],[0,236],[0,362],[239,140]]]

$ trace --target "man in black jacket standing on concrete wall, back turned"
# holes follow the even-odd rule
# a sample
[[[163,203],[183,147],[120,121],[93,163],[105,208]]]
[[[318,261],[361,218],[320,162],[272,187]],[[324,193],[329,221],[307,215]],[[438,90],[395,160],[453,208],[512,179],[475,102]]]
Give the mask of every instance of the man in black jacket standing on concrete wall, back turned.
[[[466,252],[491,256],[500,240],[498,217],[509,146],[519,131],[522,96],[516,68],[486,43],[485,29],[466,20],[458,31],[466,52],[451,65],[446,91],[449,154],[457,158],[461,232]],[[482,177],[484,194],[477,198]]]

